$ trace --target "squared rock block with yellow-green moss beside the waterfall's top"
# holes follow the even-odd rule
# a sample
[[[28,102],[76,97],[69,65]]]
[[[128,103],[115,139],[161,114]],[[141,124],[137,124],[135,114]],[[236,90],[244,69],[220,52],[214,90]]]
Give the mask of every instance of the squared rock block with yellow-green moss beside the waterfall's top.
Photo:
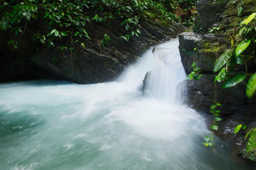
[[[212,73],[216,58],[226,46],[222,34],[183,32],[179,35],[181,62],[187,74],[193,71],[195,62],[204,73]]]

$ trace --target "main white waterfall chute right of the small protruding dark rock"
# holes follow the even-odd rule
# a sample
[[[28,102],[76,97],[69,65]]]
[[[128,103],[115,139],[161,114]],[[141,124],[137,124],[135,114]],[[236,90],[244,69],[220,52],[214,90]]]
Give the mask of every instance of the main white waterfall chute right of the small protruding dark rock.
[[[177,85],[186,79],[177,41],[178,39],[173,39],[154,48],[154,67],[146,86],[153,97],[170,103],[176,103],[177,97],[180,96]]]

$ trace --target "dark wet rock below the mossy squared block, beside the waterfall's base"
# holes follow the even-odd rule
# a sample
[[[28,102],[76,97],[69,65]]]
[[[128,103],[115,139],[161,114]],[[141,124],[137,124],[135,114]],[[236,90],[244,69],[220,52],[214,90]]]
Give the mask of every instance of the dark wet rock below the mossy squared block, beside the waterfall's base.
[[[233,88],[222,89],[222,83],[215,82],[214,74],[204,74],[199,80],[187,80],[179,84],[185,86],[183,101],[189,107],[199,112],[210,113],[210,107],[214,101],[222,106],[218,107],[223,117],[242,118],[255,113],[255,98],[247,98],[245,95],[245,82],[237,84]]]

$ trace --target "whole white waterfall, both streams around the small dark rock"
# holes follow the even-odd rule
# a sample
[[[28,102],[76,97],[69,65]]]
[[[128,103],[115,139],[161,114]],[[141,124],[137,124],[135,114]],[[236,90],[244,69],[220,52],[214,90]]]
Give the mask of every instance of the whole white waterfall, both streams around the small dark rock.
[[[177,85],[186,79],[186,73],[180,61],[178,38],[149,49],[141,57],[141,61],[130,66],[117,80],[129,84],[130,88],[137,88],[148,71],[150,81],[146,90],[150,96],[167,101],[171,104],[179,100]],[[178,94],[177,94],[178,92]]]

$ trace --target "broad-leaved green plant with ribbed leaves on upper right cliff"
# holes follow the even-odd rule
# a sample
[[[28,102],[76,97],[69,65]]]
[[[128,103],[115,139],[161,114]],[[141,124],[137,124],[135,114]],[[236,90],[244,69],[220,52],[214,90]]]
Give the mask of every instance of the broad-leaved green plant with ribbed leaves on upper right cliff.
[[[244,20],[241,25],[247,25],[254,17],[256,13],[251,14],[246,20]],[[241,43],[239,43],[236,48],[231,48],[225,50],[223,54],[217,59],[214,65],[213,72],[218,72],[221,69],[221,71],[218,73],[217,77],[215,78],[215,81],[225,81],[222,88],[230,88],[235,86],[236,84],[242,82],[245,80],[246,75],[251,75],[249,81],[246,85],[246,96],[251,98],[253,94],[256,91],[256,73],[254,74],[247,74],[247,65],[246,62],[249,61],[252,57],[255,58],[255,50],[251,42],[255,43],[255,31],[256,28],[254,28],[254,25],[252,25],[252,28],[246,28],[242,27],[241,30],[239,30],[238,35],[236,36],[237,39],[243,38]],[[248,37],[248,33],[250,32],[251,37]],[[231,39],[231,44],[234,44],[234,40]],[[235,47],[234,45],[232,47]],[[242,55],[242,53],[246,50],[249,55]],[[235,65],[241,65],[245,64],[246,67],[246,74],[243,73],[236,73],[235,75],[231,76],[234,72]]]

